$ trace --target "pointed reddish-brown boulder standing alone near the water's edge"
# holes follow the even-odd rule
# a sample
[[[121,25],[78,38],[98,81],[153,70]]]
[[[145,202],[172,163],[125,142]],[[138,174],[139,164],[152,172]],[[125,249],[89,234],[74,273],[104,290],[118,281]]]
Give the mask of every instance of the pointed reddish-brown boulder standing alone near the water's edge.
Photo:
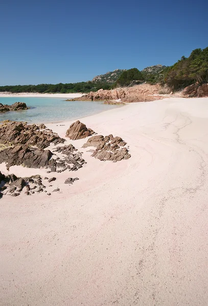
[[[72,123],[69,129],[66,131],[66,137],[77,140],[86,138],[88,136],[93,135],[95,132],[91,129],[87,129],[86,125],[79,120]]]

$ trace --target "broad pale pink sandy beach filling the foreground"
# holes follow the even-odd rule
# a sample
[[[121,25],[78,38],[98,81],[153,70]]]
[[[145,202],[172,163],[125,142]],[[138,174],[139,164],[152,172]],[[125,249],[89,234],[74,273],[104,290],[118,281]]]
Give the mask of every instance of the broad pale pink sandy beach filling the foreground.
[[[207,118],[208,98],[83,118],[121,136],[131,158],[101,162],[81,149],[87,164],[56,174],[60,193],[0,200],[0,304],[207,305]],[[64,136],[70,123],[48,126]],[[64,185],[67,176],[79,181]]]

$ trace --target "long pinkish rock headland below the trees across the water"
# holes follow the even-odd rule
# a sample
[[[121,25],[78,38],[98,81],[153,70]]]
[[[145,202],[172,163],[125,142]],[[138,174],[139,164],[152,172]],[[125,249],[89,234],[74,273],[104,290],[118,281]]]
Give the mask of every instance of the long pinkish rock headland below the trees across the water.
[[[158,94],[161,86],[159,84],[141,84],[132,87],[116,88],[112,90],[100,89],[96,92],[90,91],[88,94],[78,98],[79,100],[118,100],[121,102],[131,103],[131,102],[144,102],[153,101],[160,99],[161,96],[152,96],[153,94]]]

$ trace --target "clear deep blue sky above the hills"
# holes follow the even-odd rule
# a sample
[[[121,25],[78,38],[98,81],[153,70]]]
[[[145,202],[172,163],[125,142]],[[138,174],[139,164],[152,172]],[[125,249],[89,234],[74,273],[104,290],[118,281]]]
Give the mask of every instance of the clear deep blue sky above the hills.
[[[208,46],[205,0],[2,0],[0,85],[172,65]]]

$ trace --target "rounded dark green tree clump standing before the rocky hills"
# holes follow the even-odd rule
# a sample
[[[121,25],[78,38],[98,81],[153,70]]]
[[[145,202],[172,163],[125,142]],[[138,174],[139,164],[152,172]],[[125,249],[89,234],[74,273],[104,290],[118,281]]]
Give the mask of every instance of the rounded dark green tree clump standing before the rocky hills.
[[[136,81],[144,81],[142,73],[137,68],[128,69],[120,75],[113,87],[133,85],[136,83]]]

